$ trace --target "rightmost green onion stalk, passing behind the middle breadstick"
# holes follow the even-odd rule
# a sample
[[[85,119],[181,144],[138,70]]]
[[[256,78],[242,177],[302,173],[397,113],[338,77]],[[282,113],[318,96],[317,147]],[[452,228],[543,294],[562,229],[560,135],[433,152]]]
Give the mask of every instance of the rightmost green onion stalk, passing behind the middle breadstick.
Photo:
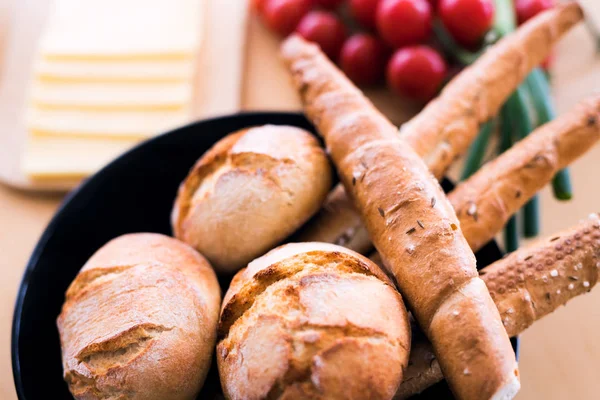
[[[531,100],[538,116],[538,124],[543,125],[552,121],[556,117],[556,112],[552,104],[550,85],[544,73],[536,68],[527,77],[526,84],[531,92]],[[571,200],[573,198],[573,188],[568,168],[558,171],[552,179],[552,189],[554,197],[558,200]]]

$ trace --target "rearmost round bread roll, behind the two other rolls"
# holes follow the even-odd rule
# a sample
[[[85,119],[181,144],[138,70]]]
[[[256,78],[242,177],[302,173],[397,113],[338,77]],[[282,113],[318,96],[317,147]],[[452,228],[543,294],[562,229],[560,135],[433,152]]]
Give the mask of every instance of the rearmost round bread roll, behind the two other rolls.
[[[215,144],[179,188],[175,236],[233,273],[293,233],[325,200],[329,160],[309,132],[265,125]]]

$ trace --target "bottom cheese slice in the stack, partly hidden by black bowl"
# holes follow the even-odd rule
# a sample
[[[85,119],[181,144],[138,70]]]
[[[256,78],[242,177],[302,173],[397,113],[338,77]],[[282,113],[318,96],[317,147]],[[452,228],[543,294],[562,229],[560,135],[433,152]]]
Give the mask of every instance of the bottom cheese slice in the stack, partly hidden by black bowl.
[[[84,178],[137,143],[137,140],[30,137],[23,171],[34,180]]]

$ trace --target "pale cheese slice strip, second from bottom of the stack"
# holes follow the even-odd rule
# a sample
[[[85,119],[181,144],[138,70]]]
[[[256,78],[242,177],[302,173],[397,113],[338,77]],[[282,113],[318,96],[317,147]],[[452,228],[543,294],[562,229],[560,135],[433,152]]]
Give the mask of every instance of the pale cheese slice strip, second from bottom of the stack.
[[[47,110],[32,107],[27,128],[36,136],[148,138],[190,120],[189,110],[85,111]]]

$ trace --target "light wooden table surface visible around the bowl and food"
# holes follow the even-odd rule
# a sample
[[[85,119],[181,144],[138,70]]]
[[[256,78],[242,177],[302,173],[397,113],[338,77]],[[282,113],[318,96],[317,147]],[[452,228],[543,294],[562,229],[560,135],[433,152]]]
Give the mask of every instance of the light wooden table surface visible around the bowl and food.
[[[597,20],[600,5],[582,1]],[[596,5],[594,5],[596,3]],[[243,108],[298,110],[299,103],[276,57],[277,40],[251,21],[247,45]],[[554,95],[559,112],[600,89],[600,59],[583,27],[559,45]],[[226,62],[226,55],[223,55]],[[401,102],[382,103],[394,110]],[[390,111],[388,111],[390,112]],[[394,112],[397,118],[398,113]],[[402,115],[402,114],[401,114]],[[395,121],[398,122],[398,121]],[[0,132],[8,135],[10,132]],[[600,211],[600,146],[571,169],[575,199],[559,203],[548,189],[542,193],[542,234],[548,235]],[[10,366],[10,327],[21,274],[38,237],[62,196],[35,195],[0,186],[0,399],[16,398]],[[522,390],[518,399],[600,398],[600,288],[575,299],[551,316],[536,322],[522,335]],[[51,397],[49,397],[51,398]]]

